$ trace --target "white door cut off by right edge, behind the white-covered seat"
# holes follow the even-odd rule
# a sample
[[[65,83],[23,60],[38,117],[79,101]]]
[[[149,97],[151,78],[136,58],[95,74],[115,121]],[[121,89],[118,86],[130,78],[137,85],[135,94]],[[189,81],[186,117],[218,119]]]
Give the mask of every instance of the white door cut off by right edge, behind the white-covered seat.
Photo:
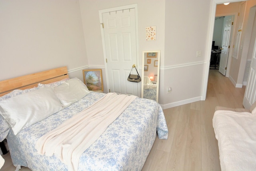
[[[252,53],[252,62],[248,77],[248,85],[244,93],[243,105],[244,108],[250,109],[250,106],[256,101],[256,41]]]

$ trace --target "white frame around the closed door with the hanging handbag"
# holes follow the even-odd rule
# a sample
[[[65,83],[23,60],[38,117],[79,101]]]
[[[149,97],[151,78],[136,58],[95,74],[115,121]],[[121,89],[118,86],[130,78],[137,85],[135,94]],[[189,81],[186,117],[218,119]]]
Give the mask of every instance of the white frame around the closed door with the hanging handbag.
[[[103,49],[103,56],[104,56],[104,65],[105,65],[105,74],[106,74],[106,84],[107,84],[107,89],[110,89],[109,86],[109,78],[108,78],[108,65],[106,62],[106,44],[105,44],[105,38],[104,38],[104,29],[102,28],[102,23],[103,23],[103,18],[102,18],[102,13],[106,13],[106,12],[113,12],[113,11],[120,11],[120,10],[126,10],[126,9],[130,9],[130,8],[134,8],[135,9],[135,33],[136,33],[136,60],[137,60],[137,66],[140,66],[140,59],[139,59],[139,40],[138,40],[138,6],[137,4],[131,4],[131,5],[126,5],[126,6],[118,6],[118,7],[114,7],[114,8],[108,8],[108,9],[104,9],[104,10],[99,10],[99,17],[100,17],[100,32],[101,32],[101,40],[102,40],[102,49]],[[137,67],[138,68],[138,67]],[[140,71],[138,71],[140,72]],[[138,95],[140,95],[141,93],[141,86],[138,86]]]

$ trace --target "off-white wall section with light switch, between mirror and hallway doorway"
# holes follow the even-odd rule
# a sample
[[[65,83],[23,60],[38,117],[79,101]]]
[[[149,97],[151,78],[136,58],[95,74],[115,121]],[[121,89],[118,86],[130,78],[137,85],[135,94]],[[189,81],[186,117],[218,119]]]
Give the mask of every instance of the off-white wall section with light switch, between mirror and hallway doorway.
[[[202,98],[209,53],[205,49],[210,1],[166,0],[165,8],[164,84],[161,84],[159,102],[167,108]],[[196,51],[202,52],[201,57],[196,57]],[[168,87],[172,87],[169,94],[166,93]]]

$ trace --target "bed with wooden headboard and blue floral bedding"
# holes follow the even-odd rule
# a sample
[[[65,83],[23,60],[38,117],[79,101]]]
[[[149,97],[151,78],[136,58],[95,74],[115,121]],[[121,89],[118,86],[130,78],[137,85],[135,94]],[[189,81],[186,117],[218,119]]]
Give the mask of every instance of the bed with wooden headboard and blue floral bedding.
[[[75,84],[75,89],[72,89],[74,93],[77,93],[77,89],[80,90],[79,86],[85,86],[78,78],[68,78],[66,67],[4,80],[0,82],[0,96],[2,96],[0,97],[0,104],[5,104],[6,101],[12,101],[15,98],[23,98],[21,96],[26,96],[29,93],[42,93],[44,92],[43,89],[47,89],[47,91],[54,89],[56,93],[55,89],[63,88],[67,82],[70,83],[70,86],[72,85],[71,82],[80,82],[79,85]],[[78,95],[81,94],[81,91],[78,91]],[[6,119],[0,115],[0,141],[3,141],[4,138],[7,139],[12,163],[17,167],[16,170],[20,166],[28,167],[31,170],[72,170],[55,154],[51,156],[39,154],[35,147],[38,139],[77,116],[81,111],[90,108],[105,95],[90,91],[81,99],[76,99],[75,102],[72,97],[65,99],[65,102],[70,102],[72,99],[72,103],[65,105],[61,103],[62,108],[57,109],[57,112],[51,111],[54,113],[48,114],[47,117],[38,122],[25,125],[23,128],[18,127],[18,131],[17,127],[9,126],[10,120],[6,122]],[[60,96],[57,97],[60,100]],[[33,103],[36,104],[37,101]],[[41,110],[37,111],[41,112]],[[40,116],[41,113],[39,113]],[[14,115],[17,114],[19,112]],[[38,113],[35,112],[36,114]],[[137,97],[117,119],[106,127],[106,130],[94,143],[82,151],[78,168],[74,168],[74,170],[141,170],[156,135],[160,139],[168,138],[168,128],[162,108],[155,101]]]

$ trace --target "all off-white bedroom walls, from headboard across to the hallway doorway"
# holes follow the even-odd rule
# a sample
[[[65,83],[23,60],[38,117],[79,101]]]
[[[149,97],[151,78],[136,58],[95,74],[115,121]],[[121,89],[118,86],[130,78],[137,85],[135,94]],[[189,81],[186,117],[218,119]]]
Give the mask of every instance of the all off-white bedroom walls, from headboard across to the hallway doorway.
[[[0,0],[0,80],[59,66],[81,80],[84,68],[104,77],[98,11],[129,4],[138,5],[140,62],[143,50],[161,51],[159,103],[202,99],[213,0]],[[146,26],[156,26],[156,41],[146,42]]]

